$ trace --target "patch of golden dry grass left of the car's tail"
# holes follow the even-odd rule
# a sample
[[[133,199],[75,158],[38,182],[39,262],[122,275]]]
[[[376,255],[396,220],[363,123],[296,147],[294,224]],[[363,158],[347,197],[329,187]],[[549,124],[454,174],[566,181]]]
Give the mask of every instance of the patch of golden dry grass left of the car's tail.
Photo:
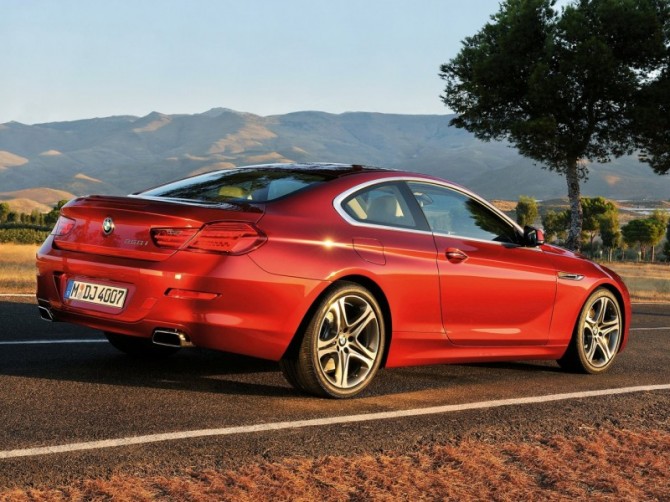
[[[38,248],[0,244],[0,293],[35,292],[35,252]]]

